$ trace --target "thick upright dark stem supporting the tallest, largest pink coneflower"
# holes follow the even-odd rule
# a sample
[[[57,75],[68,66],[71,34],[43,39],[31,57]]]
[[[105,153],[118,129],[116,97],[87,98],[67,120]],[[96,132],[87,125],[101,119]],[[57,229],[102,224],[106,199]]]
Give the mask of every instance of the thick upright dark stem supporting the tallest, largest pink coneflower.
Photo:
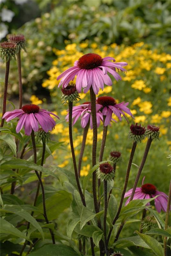
[[[90,101],[91,101],[91,115],[93,125],[93,147],[92,147],[92,167],[96,164],[96,150],[97,150],[97,117],[96,117],[96,95],[93,92],[93,87],[90,87]],[[96,171],[93,172],[93,200],[95,212],[99,212],[97,194],[96,194]]]

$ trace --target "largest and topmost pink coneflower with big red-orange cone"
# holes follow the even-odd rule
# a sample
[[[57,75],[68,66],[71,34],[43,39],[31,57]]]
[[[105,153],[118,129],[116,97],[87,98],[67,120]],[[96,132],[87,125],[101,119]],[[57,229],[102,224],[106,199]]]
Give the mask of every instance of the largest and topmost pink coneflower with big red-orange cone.
[[[96,53],[87,53],[83,55],[79,60],[75,61],[74,67],[68,68],[60,76],[57,77],[57,80],[63,79],[60,81],[58,87],[62,84],[65,88],[68,83],[76,78],[76,87],[77,91],[81,92],[81,88],[84,88],[84,92],[88,92],[91,85],[95,94],[98,94],[99,89],[103,90],[104,84],[112,85],[112,80],[108,76],[108,72],[115,77],[118,81],[121,80],[121,76],[115,71],[126,71],[122,66],[127,66],[126,62],[116,62],[113,63],[109,60],[115,61],[112,57],[102,58],[99,54]]]

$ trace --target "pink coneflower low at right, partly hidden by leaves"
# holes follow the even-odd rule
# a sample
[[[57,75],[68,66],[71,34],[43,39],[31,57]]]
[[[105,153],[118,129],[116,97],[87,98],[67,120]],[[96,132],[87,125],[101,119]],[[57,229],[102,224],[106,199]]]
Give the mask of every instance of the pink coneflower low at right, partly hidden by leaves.
[[[157,198],[154,199],[154,204],[155,204],[156,210],[158,212],[161,212],[161,210],[166,212],[168,196],[165,193],[158,191],[157,188],[150,183],[143,184],[144,179],[145,179],[145,177],[143,178],[141,188],[136,188],[133,200],[149,199],[149,198],[159,195]],[[132,188],[130,190],[128,190],[128,192],[125,193],[124,197],[130,196],[131,193],[132,193]],[[127,199],[125,205],[127,205],[129,203],[129,201],[130,201],[130,197]],[[147,203],[147,205],[150,205],[150,203]]]

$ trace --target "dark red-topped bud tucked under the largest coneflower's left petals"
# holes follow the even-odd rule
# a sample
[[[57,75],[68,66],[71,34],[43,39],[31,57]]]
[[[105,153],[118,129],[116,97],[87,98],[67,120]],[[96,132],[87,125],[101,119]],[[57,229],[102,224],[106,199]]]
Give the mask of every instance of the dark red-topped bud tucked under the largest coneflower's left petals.
[[[67,87],[62,88],[61,91],[62,91],[61,99],[62,101],[64,101],[64,103],[81,100],[79,98],[79,93],[76,89],[75,84],[68,84]]]

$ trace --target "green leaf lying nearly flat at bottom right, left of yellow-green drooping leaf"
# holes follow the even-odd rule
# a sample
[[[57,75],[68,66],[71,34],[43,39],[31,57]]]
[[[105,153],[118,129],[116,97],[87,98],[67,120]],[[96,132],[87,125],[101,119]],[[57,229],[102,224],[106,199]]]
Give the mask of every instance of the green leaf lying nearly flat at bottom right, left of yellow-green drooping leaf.
[[[114,243],[114,245],[116,248],[125,248],[125,247],[136,245],[139,247],[144,247],[149,249],[149,246],[139,236],[130,236],[130,237],[119,239]]]

